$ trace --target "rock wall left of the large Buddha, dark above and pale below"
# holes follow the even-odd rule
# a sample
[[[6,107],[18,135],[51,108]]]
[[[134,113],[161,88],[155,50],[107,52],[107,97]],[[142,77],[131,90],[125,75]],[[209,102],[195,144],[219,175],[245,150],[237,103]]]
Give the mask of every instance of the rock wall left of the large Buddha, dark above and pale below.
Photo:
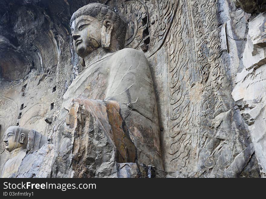
[[[73,70],[81,67],[69,21],[90,2],[0,2],[0,171],[8,159],[2,139],[9,126],[51,136]]]

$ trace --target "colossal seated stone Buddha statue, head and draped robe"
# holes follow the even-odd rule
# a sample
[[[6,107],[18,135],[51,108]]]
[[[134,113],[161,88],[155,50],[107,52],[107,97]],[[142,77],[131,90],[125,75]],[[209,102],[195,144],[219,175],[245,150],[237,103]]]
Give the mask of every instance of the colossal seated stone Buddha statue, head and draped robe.
[[[63,127],[65,129],[73,127],[77,122],[74,116],[66,118],[67,114],[73,112],[70,110],[70,104],[82,104],[93,115],[97,126],[115,148],[116,162],[136,162],[163,169],[157,102],[151,70],[144,53],[124,48],[125,22],[118,12],[109,6],[90,3],[73,13],[70,26],[73,48],[82,59],[85,69],[77,75],[63,95],[60,116],[54,128],[61,132],[58,139],[62,139],[63,131],[70,131],[60,127],[63,120],[66,121]],[[85,123],[86,121],[84,125]],[[83,135],[77,136],[78,139],[83,137],[82,140],[69,143],[75,145],[75,142],[91,140],[84,138],[84,134],[95,128],[95,124],[90,125],[94,127],[88,127],[88,132],[83,130]],[[69,133],[64,136],[69,137]],[[60,140],[56,142],[61,143],[58,148],[67,145]],[[73,150],[83,145],[87,147],[88,144],[79,143],[73,146]],[[76,156],[75,162],[88,161],[80,161],[79,152]],[[75,164],[81,167],[80,164]],[[71,165],[73,167],[74,163]],[[82,169],[76,170],[81,173]]]

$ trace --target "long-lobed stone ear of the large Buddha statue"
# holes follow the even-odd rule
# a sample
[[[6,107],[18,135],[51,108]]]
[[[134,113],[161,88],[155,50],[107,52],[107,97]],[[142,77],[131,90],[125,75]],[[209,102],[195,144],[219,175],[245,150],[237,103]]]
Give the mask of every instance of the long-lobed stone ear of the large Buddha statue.
[[[105,19],[102,25],[102,48],[109,49],[111,45],[111,33],[113,30],[114,24],[109,19]]]

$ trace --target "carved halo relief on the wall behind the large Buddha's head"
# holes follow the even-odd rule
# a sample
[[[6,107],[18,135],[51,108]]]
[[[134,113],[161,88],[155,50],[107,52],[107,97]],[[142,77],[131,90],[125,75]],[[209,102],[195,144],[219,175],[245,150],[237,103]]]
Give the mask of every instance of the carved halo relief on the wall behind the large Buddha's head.
[[[176,10],[165,0],[118,0],[107,5],[126,21],[125,48],[143,50],[152,56],[163,45]],[[118,5],[114,7],[112,5]]]

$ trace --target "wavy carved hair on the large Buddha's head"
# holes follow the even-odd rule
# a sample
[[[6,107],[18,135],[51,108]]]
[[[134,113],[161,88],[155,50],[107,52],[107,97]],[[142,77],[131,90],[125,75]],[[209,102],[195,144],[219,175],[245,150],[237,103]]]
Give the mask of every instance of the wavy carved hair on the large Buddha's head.
[[[103,26],[103,21],[105,19],[112,21],[114,25],[114,32],[112,33],[113,37],[115,37],[118,41],[119,49],[121,50],[124,48],[126,34],[125,22],[114,9],[101,3],[90,3],[79,8],[76,12],[73,13],[70,20],[70,26],[76,18],[82,15],[89,15],[98,19],[101,26]]]

